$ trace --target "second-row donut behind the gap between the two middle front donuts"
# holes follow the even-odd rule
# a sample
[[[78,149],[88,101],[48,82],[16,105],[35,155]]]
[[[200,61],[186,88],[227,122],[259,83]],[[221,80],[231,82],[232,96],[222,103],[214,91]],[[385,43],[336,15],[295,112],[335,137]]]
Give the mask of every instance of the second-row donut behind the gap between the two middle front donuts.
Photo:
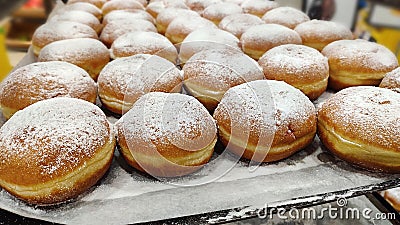
[[[208,49],[183,66],[185,90],[213,111],[231,87],[264,78],[257,62],[236,49]]]

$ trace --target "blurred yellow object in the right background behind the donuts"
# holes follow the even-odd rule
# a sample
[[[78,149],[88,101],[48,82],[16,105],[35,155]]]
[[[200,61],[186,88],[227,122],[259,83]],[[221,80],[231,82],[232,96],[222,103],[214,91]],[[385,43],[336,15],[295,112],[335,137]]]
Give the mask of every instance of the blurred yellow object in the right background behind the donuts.
[[[398,13],[398,11],[393,10],[394,15],[400,16],[400,14],[395,12]],[[397,59],[400,61],[400,29],[390,27],[374,27],[368,23],[368,16],[368,10],[360,10],[355,35],[357,37],[367,36],[373,38],[377,43],[384,45],[393,51],[393,53],[397,56]]]

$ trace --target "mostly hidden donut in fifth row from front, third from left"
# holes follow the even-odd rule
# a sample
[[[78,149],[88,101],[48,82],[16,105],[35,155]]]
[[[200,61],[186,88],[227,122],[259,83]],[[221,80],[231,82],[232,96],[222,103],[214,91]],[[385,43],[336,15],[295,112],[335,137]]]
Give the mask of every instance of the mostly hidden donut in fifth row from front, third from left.
[[[160,12],[156,18],[156,25],[158,33],[165,34],[168,25],[177,17],[191,17],[200,16],[198,13],[179,8],[166,8],[164,11]]]

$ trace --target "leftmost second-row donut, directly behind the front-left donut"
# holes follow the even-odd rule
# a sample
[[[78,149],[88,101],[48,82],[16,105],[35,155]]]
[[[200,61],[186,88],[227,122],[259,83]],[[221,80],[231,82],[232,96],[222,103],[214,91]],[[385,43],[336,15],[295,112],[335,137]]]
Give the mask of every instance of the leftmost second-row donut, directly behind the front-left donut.
[[[6,119],[35,102],[63,96],[95,103],[96,83],[83,69],[54,61],[20,67],[0,84],[0,106]]]

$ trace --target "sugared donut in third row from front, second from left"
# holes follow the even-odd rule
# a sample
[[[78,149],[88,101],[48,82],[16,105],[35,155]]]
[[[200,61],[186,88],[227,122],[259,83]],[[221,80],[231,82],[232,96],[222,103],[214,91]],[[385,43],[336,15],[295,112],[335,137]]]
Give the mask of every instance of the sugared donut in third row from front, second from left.
[[[111,46],[113,59],[136,54],[158,55],[172,63],[176,63],[178,52],[175,46],[159,33],[132,32],[119,37]]]

